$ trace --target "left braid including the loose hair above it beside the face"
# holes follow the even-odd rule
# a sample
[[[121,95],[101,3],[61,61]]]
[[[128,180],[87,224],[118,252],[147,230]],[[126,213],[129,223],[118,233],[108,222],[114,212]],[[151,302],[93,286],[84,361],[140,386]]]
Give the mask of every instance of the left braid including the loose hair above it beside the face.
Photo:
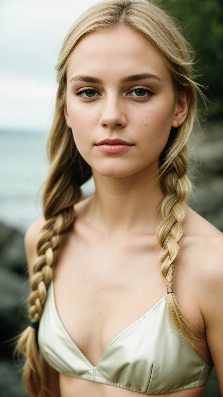
[[[75,146],[71,129],[64,122],[60,89],[56,109],[47,146],[50,171],[43,196],[46,223],[37,242],[37,259],[30,279],[29,317],[35,323],[42,316],[47,286],[53,278],[53,267],[63,232],[75,219],[74,204],[82,197],[80,186],[92,175],[90,166]],[[17,343],[17,350],[26,357],[23,380],[28,393],[31,397],[43,397],[46,381],[34,328],[28,326],[23,331]]]

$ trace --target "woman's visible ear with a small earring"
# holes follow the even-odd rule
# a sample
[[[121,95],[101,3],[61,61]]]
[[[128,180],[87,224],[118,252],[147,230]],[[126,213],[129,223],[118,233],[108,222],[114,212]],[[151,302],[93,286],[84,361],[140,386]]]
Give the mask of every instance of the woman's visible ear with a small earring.
[[[185,90],[182,93],[180,93],[179,99],[175,105],[172,127],[177,128],[185,121],[190,104],[190,98],[191,98],[190,89],[185,88]]]

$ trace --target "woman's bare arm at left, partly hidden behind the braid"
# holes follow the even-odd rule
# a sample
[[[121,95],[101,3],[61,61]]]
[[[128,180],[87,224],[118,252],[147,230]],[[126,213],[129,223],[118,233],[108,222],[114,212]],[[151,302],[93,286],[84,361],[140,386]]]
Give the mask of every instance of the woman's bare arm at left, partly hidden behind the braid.
[[[38,219],[29,227],[29,229],[27,229],[25,233],[25,252],[29,270],[29,278],[33,276],[33,266],[37,258],[36,245],[39,238],[39,233],[44,223],[44,218]],[[61,397],[59,373],[50,367],[44,359],[42,359],[42,362],[44,376],[46,377],[46,387],[48,388],[46,396],[44,397]]]

